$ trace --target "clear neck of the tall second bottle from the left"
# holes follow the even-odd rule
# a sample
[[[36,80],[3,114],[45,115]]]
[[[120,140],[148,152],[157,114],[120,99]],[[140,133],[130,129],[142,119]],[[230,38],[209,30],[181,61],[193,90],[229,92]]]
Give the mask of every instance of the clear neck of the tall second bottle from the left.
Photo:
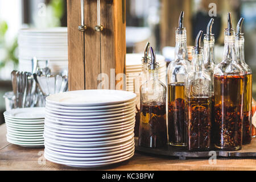
[[[185,30],[181,32],[176,31],[175,60],[176,59],[188,59],[187,34]]]

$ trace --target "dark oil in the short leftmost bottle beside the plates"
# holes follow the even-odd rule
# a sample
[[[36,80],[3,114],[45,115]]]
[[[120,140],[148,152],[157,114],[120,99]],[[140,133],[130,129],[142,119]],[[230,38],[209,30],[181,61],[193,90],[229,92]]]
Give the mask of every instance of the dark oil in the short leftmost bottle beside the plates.
[[[166,105],[141,104],[139,146],[164,147],[167,145]]]

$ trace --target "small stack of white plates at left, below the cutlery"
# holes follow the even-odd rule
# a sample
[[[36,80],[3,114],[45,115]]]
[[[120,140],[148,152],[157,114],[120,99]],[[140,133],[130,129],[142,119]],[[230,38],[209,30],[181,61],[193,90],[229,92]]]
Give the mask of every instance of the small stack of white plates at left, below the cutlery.
[[[23,147],[44,146],[44,107],[5,111],[7,141]]]

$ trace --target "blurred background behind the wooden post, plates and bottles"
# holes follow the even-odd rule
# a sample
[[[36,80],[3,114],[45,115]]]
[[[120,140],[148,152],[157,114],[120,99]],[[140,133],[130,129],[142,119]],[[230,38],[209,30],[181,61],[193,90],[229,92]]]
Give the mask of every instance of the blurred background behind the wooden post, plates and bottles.
[[[102,0],[104,1],[104,0]],[[184,11],[187,45],[193,46],[199,30],[206,31],[214,18],[216,63],[222,59],[227,14],[232,13],[233,28],[245,18],[245,60],[256,72],[256,0],[126,0],[127,53],[143,52],[147,41],[156,51],[174,59],[175,27]],[[20,28],[67,27],[66,0],[0,0],[0,124],[3,122],[3,95],[12,90],[10,73],[18,67],[18,31]],[[256,75],[253,75],[256,98]]]

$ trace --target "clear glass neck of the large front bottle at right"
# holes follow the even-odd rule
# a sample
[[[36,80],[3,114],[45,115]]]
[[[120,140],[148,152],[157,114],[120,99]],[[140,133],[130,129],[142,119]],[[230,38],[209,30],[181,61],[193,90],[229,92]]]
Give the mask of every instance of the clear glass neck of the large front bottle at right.
[[[234,35],[225,35],[224,43],[224,60],[237,61],[236,50],[234,46]]]

